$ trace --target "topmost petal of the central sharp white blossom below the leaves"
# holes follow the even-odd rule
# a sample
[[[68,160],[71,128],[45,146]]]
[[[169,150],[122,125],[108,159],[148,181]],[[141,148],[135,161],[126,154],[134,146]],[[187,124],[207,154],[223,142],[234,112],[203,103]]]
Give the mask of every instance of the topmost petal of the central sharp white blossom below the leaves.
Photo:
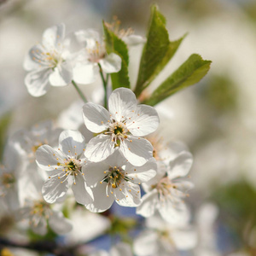
[[[120,121],[122,116],[131,118],[137,109],[135,94],[127,88],[113,90],[108,99],[108,109],[117,121]]]

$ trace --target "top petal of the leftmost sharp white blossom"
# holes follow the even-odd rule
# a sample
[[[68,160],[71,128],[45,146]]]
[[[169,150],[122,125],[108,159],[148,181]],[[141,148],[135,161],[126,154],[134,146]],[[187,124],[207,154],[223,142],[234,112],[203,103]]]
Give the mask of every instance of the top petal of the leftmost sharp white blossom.
[[[59,137],[61,151],[70,157],[84,154],[85,139],[80,131],[62,131]]]

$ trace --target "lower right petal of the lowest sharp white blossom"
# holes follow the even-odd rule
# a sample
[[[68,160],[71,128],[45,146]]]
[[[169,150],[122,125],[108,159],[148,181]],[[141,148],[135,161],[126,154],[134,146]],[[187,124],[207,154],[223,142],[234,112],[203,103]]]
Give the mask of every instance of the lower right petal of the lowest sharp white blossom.
[[[115,201],[123,207],[137,207],[141,204],[141,189],[139,185],[130,182],[121,183],[113,189]]]

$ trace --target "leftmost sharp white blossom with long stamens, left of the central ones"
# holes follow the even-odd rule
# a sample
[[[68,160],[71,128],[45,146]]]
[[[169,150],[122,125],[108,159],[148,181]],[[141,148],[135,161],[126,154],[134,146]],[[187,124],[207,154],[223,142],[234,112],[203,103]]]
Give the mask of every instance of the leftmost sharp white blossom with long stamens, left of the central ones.
[[[79,131],[62,131],[59,148],[43,145],[36,152],[37,164],[49,172],[49,179],[44,183],[42,192],[44,200],[54,203],[63,198],[69,187],[68,180],[73,181],[72,189],[76,201],[86,205],[91,201],[90,188],[87,187],[82,172],[86,164],[84,137]]]

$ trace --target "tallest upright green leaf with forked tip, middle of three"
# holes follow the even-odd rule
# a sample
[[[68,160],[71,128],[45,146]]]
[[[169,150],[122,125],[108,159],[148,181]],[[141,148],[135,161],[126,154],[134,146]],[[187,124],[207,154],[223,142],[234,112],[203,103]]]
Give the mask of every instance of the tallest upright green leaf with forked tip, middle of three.
[[[183,36],[184,38],[185,36]],[[151,8],[148,26],[148,40],[143,48],[135,94],[139,96],[148,87],[160,71],[172,59],[183,38],[171,42],[166,30],[166,19],[157,9]]]

